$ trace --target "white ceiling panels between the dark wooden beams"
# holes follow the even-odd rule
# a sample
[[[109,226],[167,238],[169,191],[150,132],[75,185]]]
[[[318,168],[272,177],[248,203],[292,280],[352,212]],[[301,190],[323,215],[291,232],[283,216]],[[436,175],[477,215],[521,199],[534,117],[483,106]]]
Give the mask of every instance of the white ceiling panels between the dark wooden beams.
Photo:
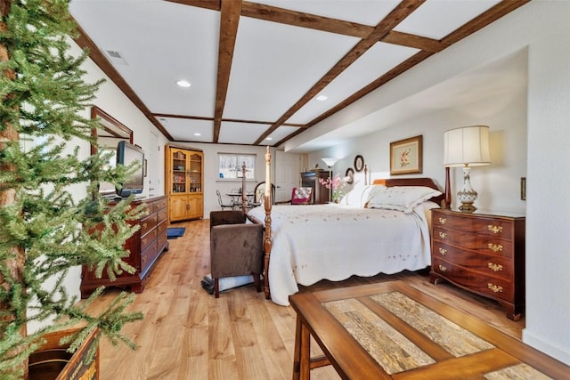
[[[338,70],[338,61],[354,49],[362,37],[246,17],[242,11],[231,68],[228,68],[227,92],[223,92],[223,113],[216,114],[216,97],[220,97],[218,49],[220,28],[225,25],[221,20],[225,19],[220,11],[191,5],[194,3],[205,2],[72,0],[69,5],[85,36],[96,45],[92,50],[99,50],[102,59],[94,61],[100,66],[105,66],[102,60],[106,61],[110,69],[102,69],[107,75],[126,93],[130,87],[139,107],[173,141],[264,145],[281,142],[282,145],[293,137],[292,133],[299,133],[299,128],[311,127],[325,112],[346,103],[351,95],[422,52],[421,48],[380,41],[371,44],[371,48],[364,50],[346,69]],[[500,0],[428,0],[396,23],[393,31],[428,37],[440,44],[457,28],[500,3]],[[219,1],[209,4],[217,4],[219,9]],[[243,2],[243,7],[251,5],[258,9],[258,4],[278,7],[268,9],[280,14],[293,11],[296,20],[320,16],[350,21],[355,23],[356,29],[376,27],[400,2],[259,0],[255,4]],[[298,12],[307,13],[307,17]],[[329,22],[329,19],[319,20]],[[120,58],[113,58],[110,52],[118,53]],[[318,93],[327,95],[327,101],[311,97],[290,117],[279,122],[335,68],[338,75],[331,77],[328,85],[319,87],[322,89]],[[456,84],[468,86],[466,78]],[[175,85],[179,79],[188,80],[191,87]],[[454,90],[453,85],[452,82],[446,84],[445,92],[463,91]],[[422,95],[428,95],[433,102],[433,94]],[[444,101],[452,99],[458,100],[448,96]],[[406,115],[410,116],[410,112],[407,109]],[[220,120],[217,140],[216,117]],[[272,126],[274,131],[269,129]],[[362,134],[354,125],[350,132],[343,129],[343,125],[338,127],[338,135],[343,139]],[[267,133],[268,130],[272,132]],[[265,140],[264,134],[273,140]],[[311,150],[317,146],[322,148],[323,143],[332,143],[326,142],[326,138],[316,140],[318,144],[306,144],[299,149]]]

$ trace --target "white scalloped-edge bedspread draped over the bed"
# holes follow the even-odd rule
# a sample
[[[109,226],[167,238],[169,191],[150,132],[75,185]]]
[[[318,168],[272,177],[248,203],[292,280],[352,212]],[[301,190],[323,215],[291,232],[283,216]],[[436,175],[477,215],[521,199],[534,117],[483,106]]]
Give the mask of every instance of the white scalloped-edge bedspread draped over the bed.
[[[297,284],[427,267],[428,218],[423,206],[417,208],[403,214],[336,205],[273,206],[269,262],[273,302],[289,305]],[[263,206],[249,214],[265,222]]]

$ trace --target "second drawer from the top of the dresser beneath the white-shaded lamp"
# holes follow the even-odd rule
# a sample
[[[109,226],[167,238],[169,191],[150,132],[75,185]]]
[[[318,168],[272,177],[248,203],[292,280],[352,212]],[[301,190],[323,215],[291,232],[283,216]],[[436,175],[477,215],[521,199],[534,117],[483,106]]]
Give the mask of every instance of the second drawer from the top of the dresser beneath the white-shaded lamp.
[[[488,235],[458,232],[442,227],[434,227],[434,244],[442,242],[446,245],[470,249],[481,254],[512,257],[513,243],[510,240],[497,239]]]

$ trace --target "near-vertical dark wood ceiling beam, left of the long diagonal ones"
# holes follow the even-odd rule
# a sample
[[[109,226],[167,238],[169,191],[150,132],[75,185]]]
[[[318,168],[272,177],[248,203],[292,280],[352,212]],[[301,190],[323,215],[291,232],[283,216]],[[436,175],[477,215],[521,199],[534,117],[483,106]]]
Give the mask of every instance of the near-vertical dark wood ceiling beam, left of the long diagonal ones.
[[[225,98],[232,71],[233,49],[240,24],[241,0],[222,0],[220,8],[220,44],[217,57],[216,106],[214,109],[214,136],[216,143],[220,137]]]

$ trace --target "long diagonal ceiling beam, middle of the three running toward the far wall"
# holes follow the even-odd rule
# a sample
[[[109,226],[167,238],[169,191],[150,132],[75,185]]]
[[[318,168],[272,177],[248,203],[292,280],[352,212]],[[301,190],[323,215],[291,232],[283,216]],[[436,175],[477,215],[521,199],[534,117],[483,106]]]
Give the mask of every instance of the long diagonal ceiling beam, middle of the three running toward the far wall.
[[[346,68],[348,68],[354,61],[358,60],[363,53],[366,53],[374,44],[376,44],[379,39],[383,38],[388,34],[390,30],[395,28],[402,20],[408,17],[412,12],[419,8],[425,0],[403,0],[398,4],[392,12],[388,13],[387,16],[379,22],[379,24],[374,28],[368,36],[363,38],[358,44],[356,44],[350,52],[338,61],[338,63],[329,70],[328,73],[324,75],[309,91],[303,95],[290,109],[288,109],[283,116],[281,116],[275,124],[273,124],[269,129],[265,131],[259,138],[254,142],[254,145],[259,145],[265,140],[267,136],[273,133],[280,125],[286,122],[289,117],[292,117],[297,110],[301,109],[308,101],[311,101],[323,88],[330,84],[336,77],[338,77]]]

